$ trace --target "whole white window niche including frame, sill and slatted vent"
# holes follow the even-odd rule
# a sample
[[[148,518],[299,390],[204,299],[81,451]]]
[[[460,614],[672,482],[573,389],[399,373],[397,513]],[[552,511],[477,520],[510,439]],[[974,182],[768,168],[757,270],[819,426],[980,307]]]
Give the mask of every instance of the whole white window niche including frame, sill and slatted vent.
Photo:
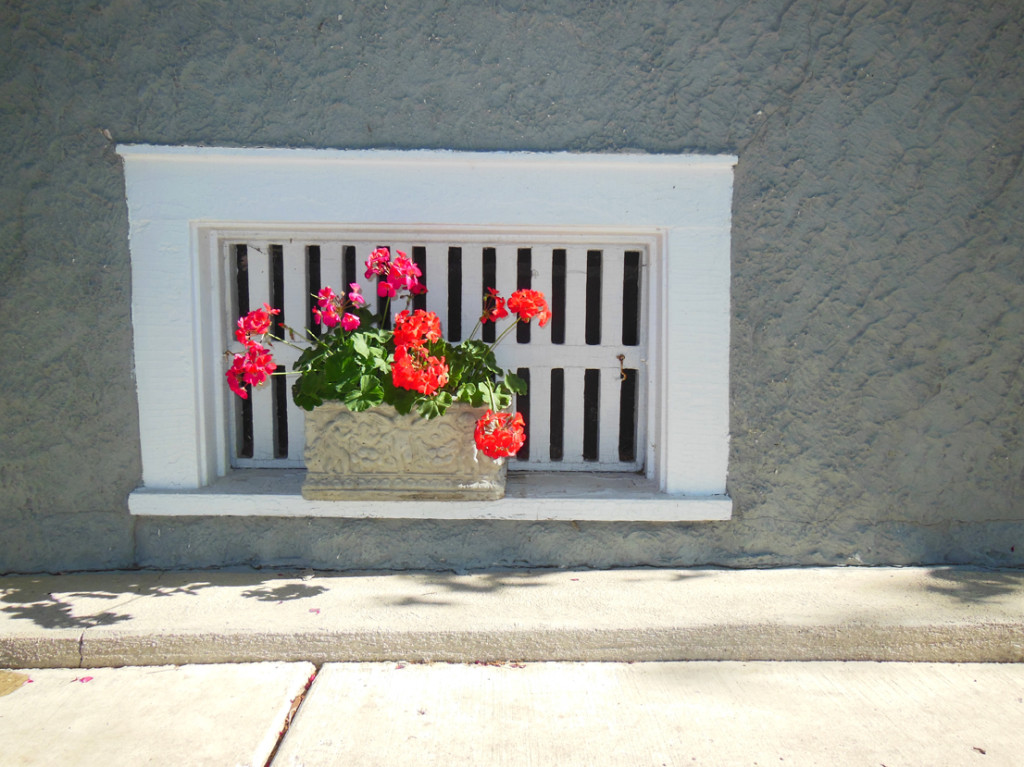
[[[143,469],[143,486],[129,498],[133,514],[731,516],[725,484],[736,158],[151,145],[118,152],[129,212]],[[488,269],[506,295],[517,269],[531,273],[532,287],[549,298],[561,286],[561,340],[534,328],[528,343],[507,339],[498,348],[503,365],[529,370],[531,384],[529,455],[510,463],[504,500],[306,501],[299,493],[302,411],[274,416],[290,436],[267,445],[271,417],[259,415],[256,397],[255,430],[263,441],[253,446],[250,437],[240,448],[236,398],[223,375],[238,309],[239,249],[253,264],[250,305],[270,298],[267,270],[283,269],[292,287],[282,298],[300,307],[295,316],[310,264],[322,283],[341,285],[351,273],[346,257],[354,252],[361,267],[372,243],[415,250],[426,265],[428,308],[447,316],[461,291],[464,325],[478,313],[472,297]],[[449,285],[456,252],[460,283]],[[603,292],[581,297],[594,274]],[[635,294],[632,302],[624,303],[624,291]],[[583,327],[588,315],[597,331]],[[631,338],[620,333],[624,322],[634,322]],[[623,376],[632,378],[628,395]],[[585,386],[602,402],[597,416],[584,407]],[[628,416],[603,410],[620,396]],[[259,397],[268,409],[270,391]]]

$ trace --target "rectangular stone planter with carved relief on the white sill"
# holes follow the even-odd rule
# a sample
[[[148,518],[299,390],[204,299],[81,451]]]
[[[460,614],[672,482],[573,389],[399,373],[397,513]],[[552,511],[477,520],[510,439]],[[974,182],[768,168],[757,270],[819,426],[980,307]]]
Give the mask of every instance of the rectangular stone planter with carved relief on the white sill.
[[[440,418],[382,406],[352,413],[325,402],[306,414],[302,496],[317,501],[489,501],[505,496],[505,459],[476,449],[482,409],[456,403]]]

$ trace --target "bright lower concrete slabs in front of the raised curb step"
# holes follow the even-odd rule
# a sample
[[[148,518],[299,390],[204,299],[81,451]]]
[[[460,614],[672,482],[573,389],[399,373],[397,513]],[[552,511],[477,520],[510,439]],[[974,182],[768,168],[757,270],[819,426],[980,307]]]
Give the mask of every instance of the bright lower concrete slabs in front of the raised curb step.
[[[0,694],[0,763],[1015,767],[1024,750],[1019,664],[327,664],[302,696],[312,673],[29,671]]]

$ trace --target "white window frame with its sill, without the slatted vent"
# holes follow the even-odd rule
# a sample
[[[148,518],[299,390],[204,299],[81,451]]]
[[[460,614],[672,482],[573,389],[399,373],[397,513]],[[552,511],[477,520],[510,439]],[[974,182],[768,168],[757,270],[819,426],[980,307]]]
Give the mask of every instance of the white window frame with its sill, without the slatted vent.
[[[121,145],[143,486],[133,514],[728,519],[732,156]],[[528,230],[650,243],[646,475],[517,472],[486,503],[315,502],[232,470],[217,232]],[[638,445],[639,449],[639,445]]]

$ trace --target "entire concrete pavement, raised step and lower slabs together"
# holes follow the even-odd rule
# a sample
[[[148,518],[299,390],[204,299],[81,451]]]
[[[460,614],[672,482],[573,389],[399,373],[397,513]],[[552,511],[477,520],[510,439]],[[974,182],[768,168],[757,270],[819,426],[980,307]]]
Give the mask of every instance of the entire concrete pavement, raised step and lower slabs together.
[[[1022,659],[1021,570],[6,577],[0,764],[1010,767]]]

